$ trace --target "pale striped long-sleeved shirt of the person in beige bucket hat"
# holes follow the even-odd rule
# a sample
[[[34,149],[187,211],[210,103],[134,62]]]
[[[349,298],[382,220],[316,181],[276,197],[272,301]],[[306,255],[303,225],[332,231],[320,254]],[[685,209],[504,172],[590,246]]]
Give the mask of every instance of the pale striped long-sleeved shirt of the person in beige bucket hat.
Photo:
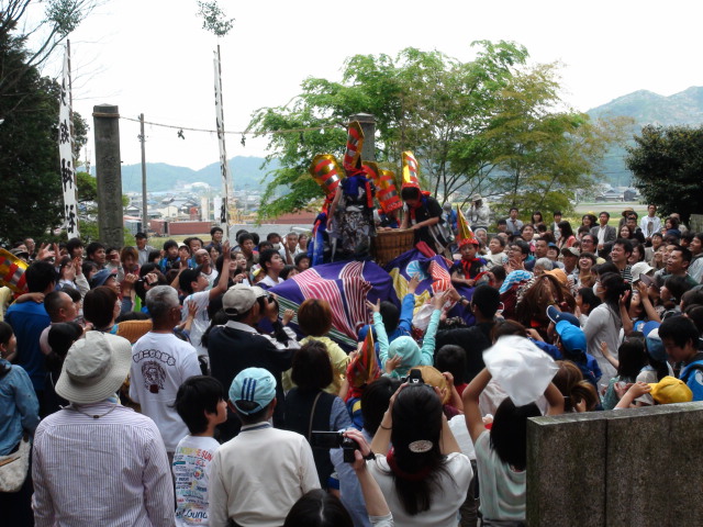
[[[107,401],[80,410],[101,417],[66,408],[36,429],[35,525],[171,527],[174,483],[154,422]]]

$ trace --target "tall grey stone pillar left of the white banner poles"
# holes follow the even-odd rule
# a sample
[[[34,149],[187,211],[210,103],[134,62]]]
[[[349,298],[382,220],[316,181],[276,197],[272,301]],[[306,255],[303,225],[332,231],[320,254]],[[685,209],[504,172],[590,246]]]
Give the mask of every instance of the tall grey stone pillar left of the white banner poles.
[[[122,158],[120,156],[120,110],[112,104],[92,108],[98,179],[98,227],[100,242],[124,245],[122,211]]]

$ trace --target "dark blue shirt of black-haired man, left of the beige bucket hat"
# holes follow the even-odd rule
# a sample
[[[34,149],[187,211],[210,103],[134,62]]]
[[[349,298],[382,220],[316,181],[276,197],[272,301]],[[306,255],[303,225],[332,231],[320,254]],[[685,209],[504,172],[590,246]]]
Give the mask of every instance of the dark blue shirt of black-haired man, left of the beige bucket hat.
[[[34,390],[44,390],[46,370],[44,354],[40,348],[40,336],[52,321],[44,304],[24,302],[12,304],[5,314],[5,321],[12,326],[18,337],[18,360],[15,361],[29,373]]]

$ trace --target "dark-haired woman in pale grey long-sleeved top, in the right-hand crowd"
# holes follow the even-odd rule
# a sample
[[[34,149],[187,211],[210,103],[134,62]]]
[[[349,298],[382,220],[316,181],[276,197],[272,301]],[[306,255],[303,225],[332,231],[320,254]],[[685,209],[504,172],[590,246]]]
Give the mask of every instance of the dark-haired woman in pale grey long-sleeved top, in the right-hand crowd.
[[[583,333],[588,343],[588,352],[598,360],[598,366],[603,372],[602,380],[605,382],[617,372],[603,356],[601,343],[605,343],[610,350],[616,350],[620,347],[620,330],[623,327],[620,304],[622,300],[625,307],[629,309],[629,294],[625,293],[631,289],[617,272],[601,274],[594,288],[595,294],[603,303],[591,312],[583,326]]]

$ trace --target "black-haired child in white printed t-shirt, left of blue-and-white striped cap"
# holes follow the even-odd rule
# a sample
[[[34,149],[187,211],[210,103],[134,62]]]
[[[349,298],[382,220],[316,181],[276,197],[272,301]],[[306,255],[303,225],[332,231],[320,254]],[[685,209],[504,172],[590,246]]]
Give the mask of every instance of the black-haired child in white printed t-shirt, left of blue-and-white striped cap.
[[[196,375],[180,385],[175,406],[190,431],[174,453],[176,525],[208,525],[210,462],[220,448],[213,436],[227,419],[226,395],[216,379]]]

